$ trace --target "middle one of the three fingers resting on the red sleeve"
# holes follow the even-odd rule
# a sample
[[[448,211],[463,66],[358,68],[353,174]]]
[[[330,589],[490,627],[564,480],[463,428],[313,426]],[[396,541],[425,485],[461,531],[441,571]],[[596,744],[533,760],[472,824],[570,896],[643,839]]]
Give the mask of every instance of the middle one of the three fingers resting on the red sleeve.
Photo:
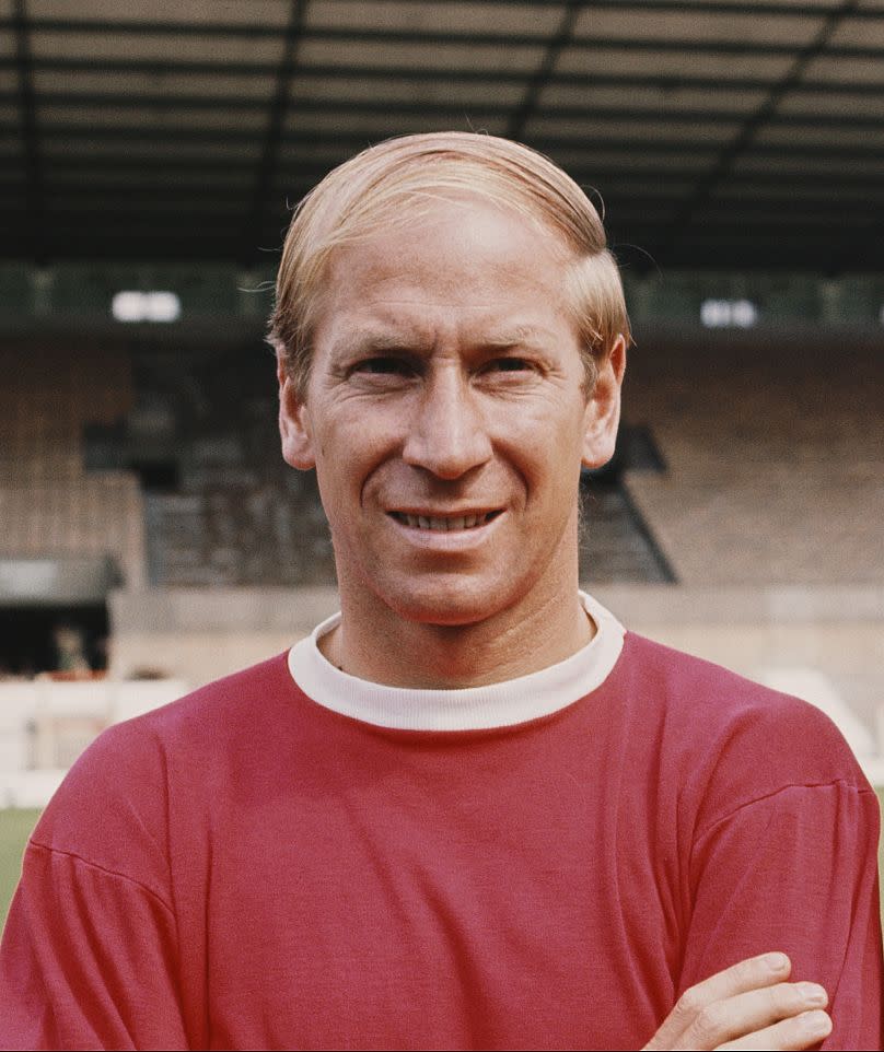
[[[825,990],[816,983],[777,983],[761,990],[749,990],[724,1001],[713,1001],[702,1008],[674,1048],[716,1049],[728,1041],[755,1035],[781,1020],[825,1008],[827,1002]]]

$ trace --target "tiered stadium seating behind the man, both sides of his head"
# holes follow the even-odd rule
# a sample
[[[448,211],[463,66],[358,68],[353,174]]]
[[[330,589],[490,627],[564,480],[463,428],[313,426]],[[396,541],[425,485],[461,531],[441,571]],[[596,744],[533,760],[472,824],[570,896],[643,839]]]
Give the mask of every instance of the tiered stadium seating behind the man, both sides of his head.
[[[111,554],[129,589],[334,584],[315,479],[278,453],[259,346],[24,351],[0,353],[3,554]],[[584,480],[583,576],[879,581],[881,372],[861,341],[846,361],[818,339],[640,340],[626,413],[653,424],[666,470],[626,457]]]

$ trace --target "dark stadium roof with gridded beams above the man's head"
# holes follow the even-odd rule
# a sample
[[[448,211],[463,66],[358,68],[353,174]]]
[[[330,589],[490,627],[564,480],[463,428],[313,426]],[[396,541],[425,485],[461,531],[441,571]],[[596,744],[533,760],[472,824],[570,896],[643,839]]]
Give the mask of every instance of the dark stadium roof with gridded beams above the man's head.
[[[548,153],[639,267],[884,270],[884,0],[0,0],[7,259],[251,266],[439,128]]]

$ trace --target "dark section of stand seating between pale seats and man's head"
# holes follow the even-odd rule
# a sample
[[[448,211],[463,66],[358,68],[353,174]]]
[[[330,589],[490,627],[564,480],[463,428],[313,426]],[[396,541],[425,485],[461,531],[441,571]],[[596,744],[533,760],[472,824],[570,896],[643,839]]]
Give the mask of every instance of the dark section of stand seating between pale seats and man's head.
[[[179,356],[142,349],[136,370],[124,456],[144,483],[151,582],[334,585],[315,479],[279,454],[267,348],[256,340]],[[146,458],[151,420],[162,426],[153,428]],[[158,464],[165,470],[155,471]]]

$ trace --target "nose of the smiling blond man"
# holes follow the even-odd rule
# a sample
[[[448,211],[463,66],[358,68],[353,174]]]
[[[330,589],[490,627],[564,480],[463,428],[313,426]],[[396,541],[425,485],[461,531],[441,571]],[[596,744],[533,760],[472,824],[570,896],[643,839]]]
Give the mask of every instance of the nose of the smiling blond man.
[[[408,421],[403,459],[441,479],[457,479],[491,456],[477,394],[456,369],[428,376]]]

